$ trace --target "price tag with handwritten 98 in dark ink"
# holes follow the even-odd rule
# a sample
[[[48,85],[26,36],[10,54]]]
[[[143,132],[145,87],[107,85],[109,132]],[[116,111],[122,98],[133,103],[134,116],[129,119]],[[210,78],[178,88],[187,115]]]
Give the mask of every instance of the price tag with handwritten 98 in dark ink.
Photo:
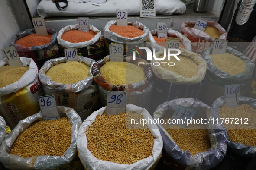
[[[126,92],[108,91],[107,92],[107,116],[117,115],[126,111]]]

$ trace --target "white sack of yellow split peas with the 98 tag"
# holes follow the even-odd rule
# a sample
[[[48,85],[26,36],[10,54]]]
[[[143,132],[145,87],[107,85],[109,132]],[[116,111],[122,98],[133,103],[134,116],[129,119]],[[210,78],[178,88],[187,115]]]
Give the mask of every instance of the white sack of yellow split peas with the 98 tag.
[[[126,113],[110,115],[108,120],[108,116],[104,113],[106,109],[107,107],[102,107],[91,114],[78,131],[78,156],[84,167],[87,170],[153,170],[162,152],[163,143],[159,129],[156,124],[145,123],[146,127],[142,125],[143,129],[138,129],[142,126],[130,124],[130,121],[126,124],[131,117],[136,120],[139,118],[152,120],[148,111],[133,104],[126,104]],[[127,115],[130,115],[128,119]],[[116,123],[110,123],[112,120]],[[111,135],[111,132],[108,134],[106,132],[104,136],[104,131],[113,133]],[[132,132],[129,134],[124,131]],[[94,132],[95,135],[90,134]],[[110,139],[106,140],[106,138]],[[97,148],[90,150],[91,145],[94,145],[93,139],[102,142],[103,145],[99,144]],[[104,145],[107,147],[104,148]],[[119,147],[119,145],[125,146]]]

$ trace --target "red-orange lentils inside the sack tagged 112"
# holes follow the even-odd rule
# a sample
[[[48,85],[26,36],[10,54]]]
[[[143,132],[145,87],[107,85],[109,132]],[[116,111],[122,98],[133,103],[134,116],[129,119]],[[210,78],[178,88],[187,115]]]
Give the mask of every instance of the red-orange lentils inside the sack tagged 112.
[[[48,34],[45,36],[30,34],[26,37],[20,38],[15,42],[15,44],[21,45],[22,47],[31,47],[31,46],[41,46],[49,44],[52,38],[52,34]]]

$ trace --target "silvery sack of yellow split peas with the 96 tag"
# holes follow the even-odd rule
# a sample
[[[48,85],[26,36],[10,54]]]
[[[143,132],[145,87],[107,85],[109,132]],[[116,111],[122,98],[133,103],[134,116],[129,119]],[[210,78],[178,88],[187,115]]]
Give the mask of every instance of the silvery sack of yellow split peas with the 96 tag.
[[[0,147],[0,161],[6,168],[52,170],[75,159],[81,118],[72,108],[57,106],[57,109],[61,119],[40,121],[43,118],[39,111],[21,120],[12,130]]]

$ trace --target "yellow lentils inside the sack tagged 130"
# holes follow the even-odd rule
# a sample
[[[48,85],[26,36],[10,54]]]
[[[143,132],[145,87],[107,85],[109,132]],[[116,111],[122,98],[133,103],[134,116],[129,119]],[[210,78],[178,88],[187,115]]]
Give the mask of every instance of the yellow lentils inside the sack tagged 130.
[[[124,85],[141,82],[144,78],[143,68],[129,62],[107,62],[100,67],[106,82],[113,85]]]

